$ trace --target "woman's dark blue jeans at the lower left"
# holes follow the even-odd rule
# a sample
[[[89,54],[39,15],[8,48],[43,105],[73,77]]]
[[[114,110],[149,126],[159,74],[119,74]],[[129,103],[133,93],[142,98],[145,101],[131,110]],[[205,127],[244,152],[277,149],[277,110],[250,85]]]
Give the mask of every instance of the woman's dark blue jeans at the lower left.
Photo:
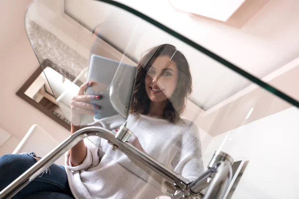
[[[34,153],[0,157],[0,191],[34,165]],[[13,199],[74,199],[63,166],[52,164],[39,177],[19,191]]]

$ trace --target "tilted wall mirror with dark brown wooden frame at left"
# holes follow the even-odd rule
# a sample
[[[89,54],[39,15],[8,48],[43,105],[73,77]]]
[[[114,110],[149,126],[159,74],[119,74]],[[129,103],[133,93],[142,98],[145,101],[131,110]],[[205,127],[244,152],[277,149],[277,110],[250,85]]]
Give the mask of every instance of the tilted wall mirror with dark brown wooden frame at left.
[[[17,91],[16,95],[64,128],[70,130],[71,123],[61,111],[54,96],[60,96],[64,90],[72,84],[75,77],[66,71],[61,71],[62,69],[57,67],[51,60],[46,59],[41,65],[43,65],[44,70],[46,70],[47,77],[45,77],[42,68],[38,67]],[[49,86],[49,82],[51,87]],[[77,81],[77,83],[80,84],[80,81]]]

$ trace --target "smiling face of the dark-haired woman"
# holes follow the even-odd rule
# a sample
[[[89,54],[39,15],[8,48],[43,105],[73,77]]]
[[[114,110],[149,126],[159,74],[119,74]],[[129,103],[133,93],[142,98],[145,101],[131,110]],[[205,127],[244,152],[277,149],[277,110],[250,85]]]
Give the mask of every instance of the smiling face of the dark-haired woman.
[[[175,91],[178,79],[176,64],[168,56],[158,57],[146,76],[146,92],[151,101],[164,101]]]

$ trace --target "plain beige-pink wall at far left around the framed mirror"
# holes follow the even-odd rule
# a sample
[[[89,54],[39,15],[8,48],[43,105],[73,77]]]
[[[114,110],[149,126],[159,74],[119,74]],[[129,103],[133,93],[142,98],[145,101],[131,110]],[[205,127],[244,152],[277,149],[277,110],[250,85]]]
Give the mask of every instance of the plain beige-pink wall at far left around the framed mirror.
[[[0,126],[12,137],[0,148],[0,155],[11,153],[31,125],[37,124],[58,141],[68,131],[18,98],[15,93],[39,66],[24,30],[0,55]]]

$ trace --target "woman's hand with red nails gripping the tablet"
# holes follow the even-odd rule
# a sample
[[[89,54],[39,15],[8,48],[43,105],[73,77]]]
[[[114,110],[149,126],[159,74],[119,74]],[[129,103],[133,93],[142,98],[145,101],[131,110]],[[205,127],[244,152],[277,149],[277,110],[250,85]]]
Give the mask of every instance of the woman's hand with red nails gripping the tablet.
[[[81,85],[78,94],[71,100],[71,123],[74,126],[80,126],[80,120],[82,114],[94,115],[95,110],[100,107],[95,104],[91,104],[92,100],[100,100],[100,95],[85,95],[88,87],[91,87],[95,82],[86,82]],[[84,124],[83,124],[84,125]]]

